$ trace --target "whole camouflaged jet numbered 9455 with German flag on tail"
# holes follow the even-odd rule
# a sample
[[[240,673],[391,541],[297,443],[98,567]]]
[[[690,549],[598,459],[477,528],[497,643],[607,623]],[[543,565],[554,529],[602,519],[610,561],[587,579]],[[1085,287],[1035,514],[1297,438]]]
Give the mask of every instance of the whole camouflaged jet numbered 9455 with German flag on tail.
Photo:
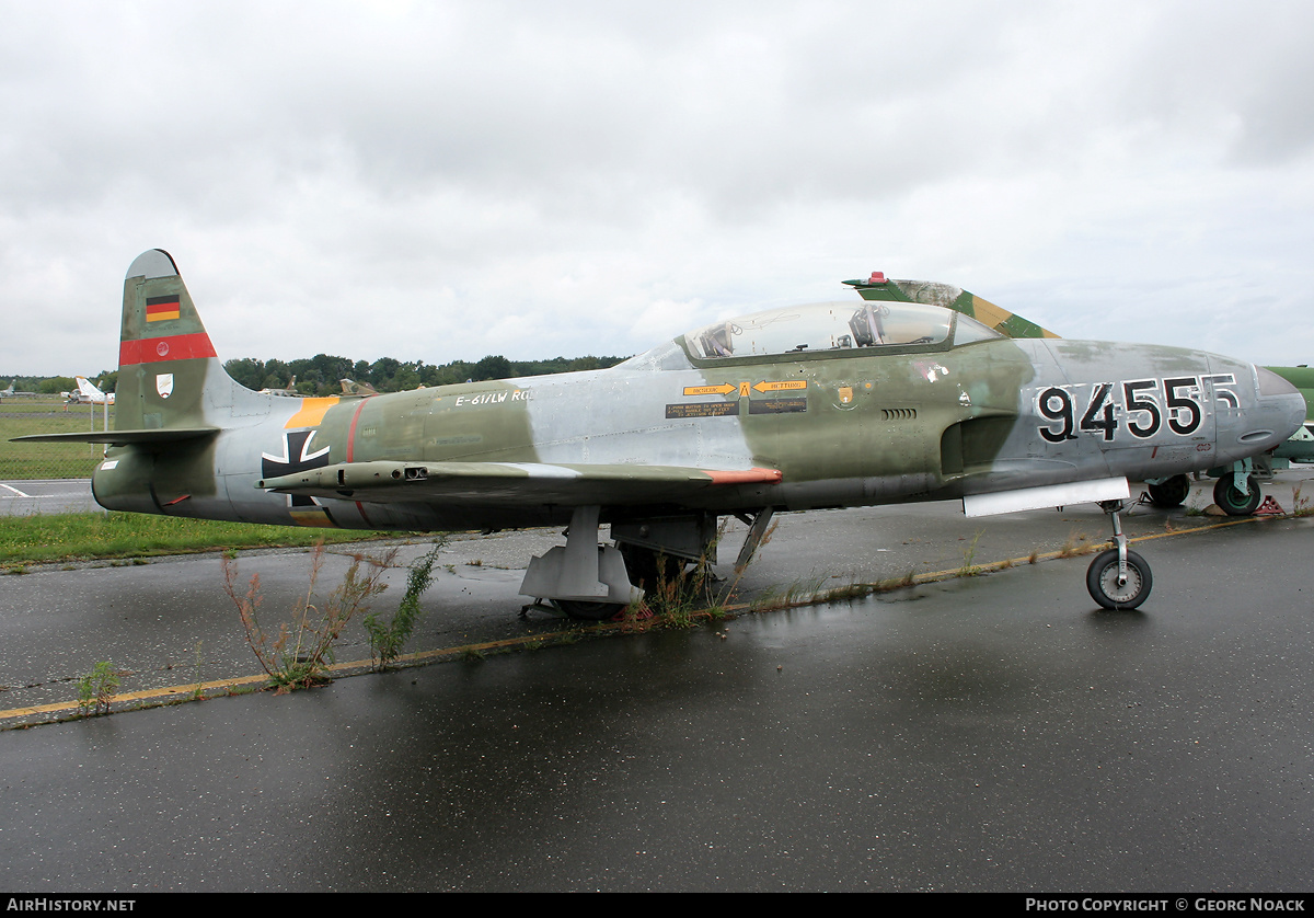
[[[608,370],[367,397],[286,399],[223,371],[172,256],[124,284],[109,509],[353,529],[569,523],[527,596],[600,618],[716,519],[961,498],[970,516],[1101,502],[1116,548],[1087,573],[1106,608],[1150,592],[1118,510],[1127,479],[1282,442],[1305,402],[1242,360],[1148,345],[1010,339],[947,309],[825,302],[714,322]],[[615,546],[599,547],[611,525]]]

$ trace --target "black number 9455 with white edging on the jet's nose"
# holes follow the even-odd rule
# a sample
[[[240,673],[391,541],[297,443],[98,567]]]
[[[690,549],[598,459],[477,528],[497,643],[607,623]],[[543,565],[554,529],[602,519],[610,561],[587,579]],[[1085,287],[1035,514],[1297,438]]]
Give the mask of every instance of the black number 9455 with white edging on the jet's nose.
[[[1223,406],[1240,406],[1235,391],[1229,388],[1236,385],[1233,374],[1051,385],[1035,397],[1037,412],[1046,421],[1038,430],[1050,443],[1076,439],[1077,433],[1102,434],[1105,441],[1112,441],[1125,418],[1127,430],[1137,439],[1154,437],[1166,423],[1179,437],[1189,437],[1200,430],[1205,420],[1206,384],[1213,389],[1214,400]],[[1087,385],[1089,396],[1079,397]]]

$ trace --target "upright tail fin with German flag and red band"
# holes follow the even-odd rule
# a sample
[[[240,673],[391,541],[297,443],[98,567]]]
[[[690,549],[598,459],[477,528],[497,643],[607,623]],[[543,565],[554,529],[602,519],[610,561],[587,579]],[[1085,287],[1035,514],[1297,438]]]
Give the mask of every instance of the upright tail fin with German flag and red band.
[[[233,383],[219,364],[173,258],[163,249],[137,256],[124,280],[114,427],[206,425],[206,377]]]

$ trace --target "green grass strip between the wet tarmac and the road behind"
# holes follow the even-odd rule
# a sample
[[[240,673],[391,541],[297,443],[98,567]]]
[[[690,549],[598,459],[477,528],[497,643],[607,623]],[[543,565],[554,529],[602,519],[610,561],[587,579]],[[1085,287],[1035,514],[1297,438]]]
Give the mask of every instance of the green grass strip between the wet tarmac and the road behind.
[[[0,517],[0,568],[64,560],[180,555],[221,548],[260,548],[403,538],[406,533],[261,526],[152,517],[143,513],[53,513]]]

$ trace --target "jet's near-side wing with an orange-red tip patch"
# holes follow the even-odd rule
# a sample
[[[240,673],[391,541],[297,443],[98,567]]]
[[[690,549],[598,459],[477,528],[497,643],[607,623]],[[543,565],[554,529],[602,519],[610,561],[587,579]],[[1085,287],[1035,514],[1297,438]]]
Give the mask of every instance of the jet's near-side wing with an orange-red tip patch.
[[[523,462],[355,462],[264,479],[256,487],[305,497],[364,502],[469,501],[637,506],[681,502],[706,488],[775,484],[774,468],[589,466]]]

